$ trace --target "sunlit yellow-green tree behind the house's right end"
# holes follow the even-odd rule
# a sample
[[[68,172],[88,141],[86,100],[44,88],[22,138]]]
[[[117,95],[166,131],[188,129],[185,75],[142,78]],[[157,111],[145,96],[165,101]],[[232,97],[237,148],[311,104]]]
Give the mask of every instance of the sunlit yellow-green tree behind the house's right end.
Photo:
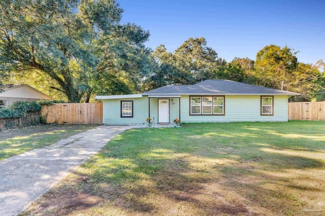
[[[321,76],[322,61],[315,65],[298,62],[294,49],[280,48],[276,45],[264,47],[256,55],[254,76],[256,84],[264,87],[301,93],[301,96],[291,97],[290,101],[322,100],[323,95],[317,95],[324,87],[324,77]]]

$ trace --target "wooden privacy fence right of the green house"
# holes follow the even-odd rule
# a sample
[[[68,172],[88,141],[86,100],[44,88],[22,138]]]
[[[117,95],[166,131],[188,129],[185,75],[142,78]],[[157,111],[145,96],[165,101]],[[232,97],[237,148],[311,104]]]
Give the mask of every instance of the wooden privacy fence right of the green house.
[[[325,101],[288,103],[289,120],[325,120]]]

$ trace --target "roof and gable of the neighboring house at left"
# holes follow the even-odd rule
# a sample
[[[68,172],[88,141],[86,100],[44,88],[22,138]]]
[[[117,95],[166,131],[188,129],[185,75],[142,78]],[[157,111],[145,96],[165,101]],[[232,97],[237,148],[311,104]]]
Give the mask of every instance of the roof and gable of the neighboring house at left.
[[[4,90],[4,92],[0,93],[0,97],[2,98],[12,97],[12,98],[46,99],[46,100],[52,99],[51,97],[44,94],[43,92],[40,92],[35,88],[32,88],[28,84],[3,84],[2,90]]]

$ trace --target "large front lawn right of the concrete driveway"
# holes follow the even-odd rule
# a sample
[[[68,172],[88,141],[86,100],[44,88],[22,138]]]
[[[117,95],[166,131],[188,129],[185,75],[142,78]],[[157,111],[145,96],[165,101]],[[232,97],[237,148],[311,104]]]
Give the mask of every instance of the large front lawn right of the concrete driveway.
[[[324,125],[131,129],[22,215],[297,215],[310,206],[324,212]]]

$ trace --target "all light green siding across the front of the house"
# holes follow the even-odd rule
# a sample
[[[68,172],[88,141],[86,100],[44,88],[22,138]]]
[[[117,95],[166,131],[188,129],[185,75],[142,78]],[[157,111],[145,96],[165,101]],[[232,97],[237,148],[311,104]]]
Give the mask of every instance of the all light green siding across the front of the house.
[[[162,98],[163,99],[163,98]],[[164,98],[166,99],[166,98]],[[179,98],[170,100],[170,122],[179,118]],[[172,101],[173,99],[173,101]],[[121,100],[133,100],[133,118],[121,118]],[[189,96],[181,97],[182,122],[232,122],[232,121],[287,121],[287,96],[274,96],[274,115],[261,116],[261,97],[259,95],[225,96],[225,115],[189,115]],[[142,98],[103,100],[104,124],[146,123],[149,117],[148,96]],[[158,98],[150,98],[150,117],[159,122]]]

